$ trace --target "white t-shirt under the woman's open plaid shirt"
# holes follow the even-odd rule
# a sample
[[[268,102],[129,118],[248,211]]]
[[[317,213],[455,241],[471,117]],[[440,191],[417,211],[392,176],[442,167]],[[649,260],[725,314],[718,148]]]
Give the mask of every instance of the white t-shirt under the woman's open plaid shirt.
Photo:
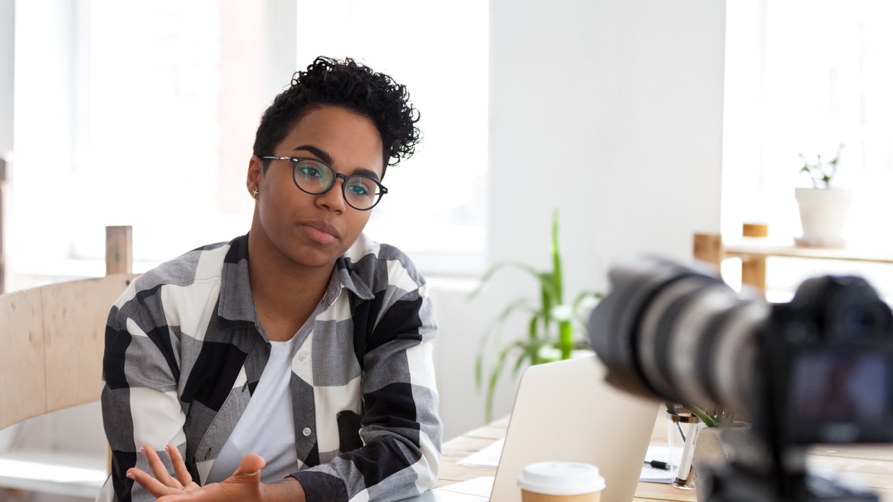
[[[214,460],[209,483],[229,478],[248,453],[263,456],[267,462],[261,470],[262,482],[280,481],[297,471],[295,423],[288,389],[297,344],[295,338],[270,343],[270,361],[263,368],[245,413]]]

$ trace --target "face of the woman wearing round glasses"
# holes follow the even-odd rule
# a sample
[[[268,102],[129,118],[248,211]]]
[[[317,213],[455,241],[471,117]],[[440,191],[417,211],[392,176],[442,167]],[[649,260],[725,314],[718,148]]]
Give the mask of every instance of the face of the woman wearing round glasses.
[[[267,155],[311,157],[340,174],[364,174],[380,180],[382,151],[379,130],[369,118],[345,108],[323,106],[307,113]],[[371,211],[346,204],[344,180],[335,180],[324,194],[311,195],[295,186],[291,162],[269,162],[264,172],[263,161],[252,156],[248,167],[248,191],[258,190],[251,238],[262,239],[265,252],[279,254],[298,266],[331,267],[359,237]]]

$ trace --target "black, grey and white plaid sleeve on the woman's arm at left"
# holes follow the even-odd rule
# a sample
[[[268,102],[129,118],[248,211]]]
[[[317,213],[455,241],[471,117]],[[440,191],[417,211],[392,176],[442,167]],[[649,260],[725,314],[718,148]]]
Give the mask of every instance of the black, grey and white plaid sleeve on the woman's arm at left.
[[[186,415],[177,395],[175,342],[164,323],[155,322],[151,309],[138,300],[136,283],[113,305],[105,328],[101,401],[105,436],[112,451],[112,482],[106,483],[104,490],[113,489],[113,496],[103,493],[102,499],[154,500],[126,476],[131,467],[151,473],[139,448],[144,444],[154,448],[172,473],[164,446],[176,445],[181,454],[186,447]]]

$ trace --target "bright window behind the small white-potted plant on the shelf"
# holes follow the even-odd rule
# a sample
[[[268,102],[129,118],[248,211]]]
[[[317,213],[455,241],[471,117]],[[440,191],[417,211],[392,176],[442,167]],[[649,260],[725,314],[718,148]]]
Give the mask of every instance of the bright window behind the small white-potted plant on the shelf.
[[[793,192],[809,186],[798,155],[833,156],[843,143],[837,180],[857,194],[844,237],[854,247],[893,247],[893,234],[879,227],[880,215],[893,213],[891,16],[893,4],[882,0],[728,2],[723,233],[767,222],[771,236],[797,237]],[[893,293],[889,266],[776,262],[783,265],[770,271],[771,289],[839,272]]]

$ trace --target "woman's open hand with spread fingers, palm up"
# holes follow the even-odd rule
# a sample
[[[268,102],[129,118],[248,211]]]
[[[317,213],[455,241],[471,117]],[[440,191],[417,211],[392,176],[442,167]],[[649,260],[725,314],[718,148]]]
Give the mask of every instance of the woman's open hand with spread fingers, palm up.
[[[171,456],[173,471],[176,478],[171,477],[161,458],[155,453],[154,448],[144,445],[143,454],[149,462],[154,477],[150,474],[132,468],[127,472],[127,477],[137,481],[149,493],[158,498],[158,502],[210,502],[210,501],[245,501],[260,502],[263,500],[263,484],[261,483],[261,469],[266,464],[261,456],[249,453],[242,457],[236,472],[229,478],[219,483],[211,483],[198,486],[192,481],[183,457],[173,445],[164,448]]]

